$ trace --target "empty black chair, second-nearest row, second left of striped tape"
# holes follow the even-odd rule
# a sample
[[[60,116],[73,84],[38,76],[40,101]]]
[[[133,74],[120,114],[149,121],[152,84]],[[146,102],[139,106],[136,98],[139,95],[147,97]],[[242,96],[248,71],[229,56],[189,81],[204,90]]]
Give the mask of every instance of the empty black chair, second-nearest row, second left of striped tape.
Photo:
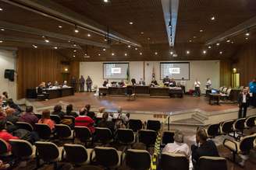
[[[130,129],[118,129],[116,139],[120,144],[133,144],[135,142],[133,130]]]

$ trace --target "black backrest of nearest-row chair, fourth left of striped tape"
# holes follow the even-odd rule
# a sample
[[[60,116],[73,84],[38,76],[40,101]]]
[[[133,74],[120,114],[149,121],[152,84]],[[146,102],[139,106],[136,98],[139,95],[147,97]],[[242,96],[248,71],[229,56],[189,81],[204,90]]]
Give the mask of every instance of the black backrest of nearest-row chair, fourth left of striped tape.
[[[46,162],[58,161],[60,155],[59,148],[56,144],[53,144],[52,142],[37,141],[35,145],[37,147],[38,158],[41,158]]]

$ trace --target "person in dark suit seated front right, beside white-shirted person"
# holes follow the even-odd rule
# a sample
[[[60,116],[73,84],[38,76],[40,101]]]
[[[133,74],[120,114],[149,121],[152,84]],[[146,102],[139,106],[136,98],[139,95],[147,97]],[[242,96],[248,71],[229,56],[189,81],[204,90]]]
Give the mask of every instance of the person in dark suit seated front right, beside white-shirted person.
[[[197,161],[201,156],[219,157],[219,152],[214,141],[207,140],[207,134],[203,128],[197,130],[196,144],[191,146],[191,151],[195,170],[197,170]]]

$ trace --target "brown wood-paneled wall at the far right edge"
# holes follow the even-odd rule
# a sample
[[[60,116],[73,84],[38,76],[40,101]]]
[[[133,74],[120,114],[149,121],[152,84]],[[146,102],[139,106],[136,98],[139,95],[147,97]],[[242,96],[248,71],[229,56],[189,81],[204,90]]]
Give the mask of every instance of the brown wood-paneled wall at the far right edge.
[[[247,43],[234,56],[236,68],[240,73],[240,85],[247,86],[253,78],[256,78],[256,44]]]

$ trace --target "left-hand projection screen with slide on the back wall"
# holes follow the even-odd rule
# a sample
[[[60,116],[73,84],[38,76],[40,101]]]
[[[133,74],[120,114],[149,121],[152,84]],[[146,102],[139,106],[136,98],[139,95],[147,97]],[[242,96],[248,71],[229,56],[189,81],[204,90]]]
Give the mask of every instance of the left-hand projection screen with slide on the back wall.
[[[129,69],[128,63],[104,63],[103,78],[125,79],[127,69]]]

